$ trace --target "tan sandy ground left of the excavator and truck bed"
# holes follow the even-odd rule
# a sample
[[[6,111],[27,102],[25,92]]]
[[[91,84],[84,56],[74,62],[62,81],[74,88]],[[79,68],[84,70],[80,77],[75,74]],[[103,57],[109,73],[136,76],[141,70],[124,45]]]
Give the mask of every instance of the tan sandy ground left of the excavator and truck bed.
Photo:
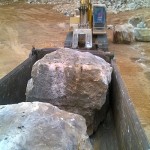
[[[50,5],[0,6],[0,78],[36,48],[62,47],[68,20]]]

